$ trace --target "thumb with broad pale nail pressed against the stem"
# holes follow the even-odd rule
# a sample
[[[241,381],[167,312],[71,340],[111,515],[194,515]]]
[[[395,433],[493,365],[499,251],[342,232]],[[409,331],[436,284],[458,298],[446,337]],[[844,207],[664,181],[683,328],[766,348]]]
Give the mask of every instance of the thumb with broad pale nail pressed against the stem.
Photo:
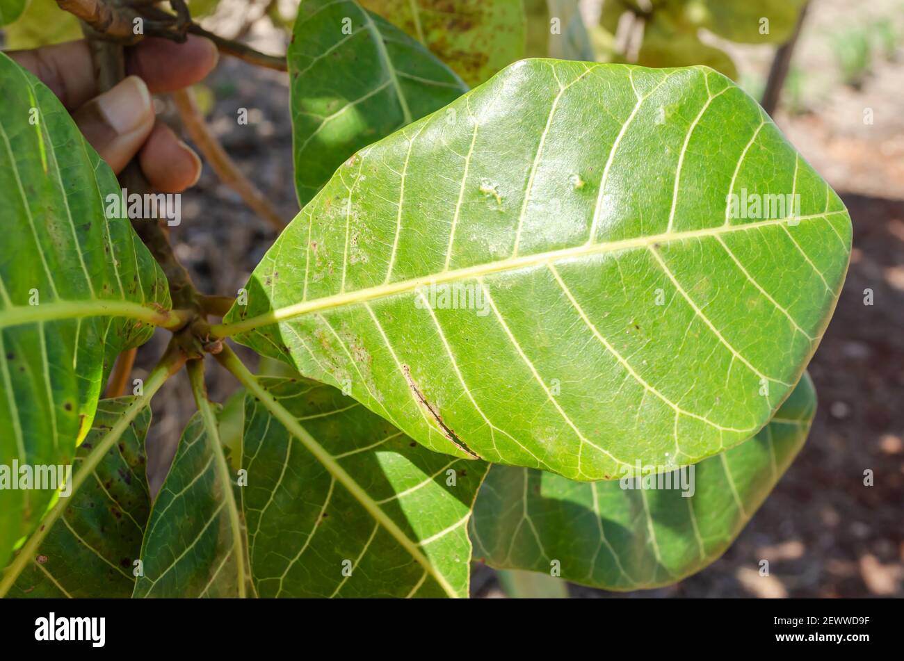
[[[72,117],[91,146],[117,173],[137,154],[154,128],[151,95],[145,81],[137,76],[129,76],[92,98]]]

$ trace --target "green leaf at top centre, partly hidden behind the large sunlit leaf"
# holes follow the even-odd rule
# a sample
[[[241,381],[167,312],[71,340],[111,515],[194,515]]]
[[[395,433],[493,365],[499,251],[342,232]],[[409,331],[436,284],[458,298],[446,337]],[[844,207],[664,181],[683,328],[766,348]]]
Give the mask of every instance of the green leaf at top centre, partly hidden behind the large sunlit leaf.
[[[418,42],[352,0],[306,0],[288,48],[298,200],[349,156],[466,91]]]

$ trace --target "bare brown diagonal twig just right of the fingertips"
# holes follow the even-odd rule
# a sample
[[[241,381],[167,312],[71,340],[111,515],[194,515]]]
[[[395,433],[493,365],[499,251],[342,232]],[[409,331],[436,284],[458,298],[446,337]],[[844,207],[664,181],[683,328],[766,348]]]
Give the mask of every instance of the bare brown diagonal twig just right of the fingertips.
[[[192,136],[194,144],[211,164],[213,171],[217,173],[221,181],[239,193],[241,199],[245,200],[245,203],[274,229],[278,232],[282,231],[286,227],[286,223],[257,187],[240,171],[239,166],[232,161],[229,154],[226,154],[220,141],[211,133],[194,102],[191,90],[180,89],[173,92],[172,96],[185,130]]]

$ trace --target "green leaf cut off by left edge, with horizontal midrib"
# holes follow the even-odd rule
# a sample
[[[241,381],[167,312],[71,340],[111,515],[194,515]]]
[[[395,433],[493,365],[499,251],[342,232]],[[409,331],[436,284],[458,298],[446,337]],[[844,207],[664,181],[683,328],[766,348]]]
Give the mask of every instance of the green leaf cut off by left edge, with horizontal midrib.
[[[116,176],[5,54],[0,98],[0,464],[66,464],[114,358],[172,322],[170,298],[129,220],[105,216]],[[0,490],[0,565],[51,496]]]

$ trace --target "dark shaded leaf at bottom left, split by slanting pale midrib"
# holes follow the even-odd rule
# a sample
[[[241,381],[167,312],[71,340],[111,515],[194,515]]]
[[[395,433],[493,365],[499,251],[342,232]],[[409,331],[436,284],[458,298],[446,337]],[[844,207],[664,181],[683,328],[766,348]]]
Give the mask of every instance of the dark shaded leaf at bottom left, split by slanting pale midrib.
[[[134,405],[135,397],[105,399],[73,471],[100,437]],[[145,438],[151,410],[143,407],[117,445],[100,460],[92,479],[73,493],[52,524],[33,563],[19,574],[10,597],[123,598],[132,594],[133,563],[151,507],[145,474]]]

